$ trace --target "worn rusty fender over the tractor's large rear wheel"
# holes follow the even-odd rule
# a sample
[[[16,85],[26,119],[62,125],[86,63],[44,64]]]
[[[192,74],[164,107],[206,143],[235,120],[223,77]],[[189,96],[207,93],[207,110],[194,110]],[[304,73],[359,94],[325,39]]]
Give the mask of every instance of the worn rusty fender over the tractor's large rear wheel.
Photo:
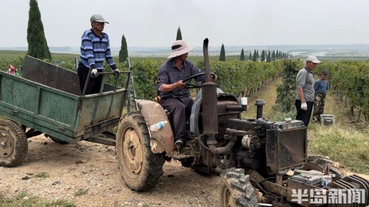
[[[148,128],[150,125],[158,122],[167,121],[168,124],[162,129],[157,131],[151,131],[149,129],[149,134],[151,151],[155,154],[166,152],[167,155],[170,155],[174,149],[173,131],[164,108],[159,103],[153,101],[135,100],[135,102],[138,103],[138,108],[144,116]]]

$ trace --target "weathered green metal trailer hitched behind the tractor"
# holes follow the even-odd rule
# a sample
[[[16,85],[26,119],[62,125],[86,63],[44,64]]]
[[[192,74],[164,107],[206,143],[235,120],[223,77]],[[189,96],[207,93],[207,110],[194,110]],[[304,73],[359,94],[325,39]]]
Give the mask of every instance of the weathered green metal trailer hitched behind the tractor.
[[[42,133],[59,143],[81,140],[115,146],[132,69],[123,88],[103,83],[98,94],[81,91],[77,73],[26,56],[22,77],[0,71],[0,165],[15,166],[27,155],[27,139]],[[87,80],[89,81],[89,80]],[[87,85],[87,83],[86,83]],[[105,138],[95,137],[105,134]]]

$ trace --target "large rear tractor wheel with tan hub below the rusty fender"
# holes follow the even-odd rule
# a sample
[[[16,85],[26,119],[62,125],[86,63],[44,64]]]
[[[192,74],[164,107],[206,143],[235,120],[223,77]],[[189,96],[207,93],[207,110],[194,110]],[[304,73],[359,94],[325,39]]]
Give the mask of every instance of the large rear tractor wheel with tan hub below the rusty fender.
[[[150,149],[149,129],[140,112],[127,114],[117,132],[118,165],[130,189],[146,191],[154,188],[163,175],[163,154]]]

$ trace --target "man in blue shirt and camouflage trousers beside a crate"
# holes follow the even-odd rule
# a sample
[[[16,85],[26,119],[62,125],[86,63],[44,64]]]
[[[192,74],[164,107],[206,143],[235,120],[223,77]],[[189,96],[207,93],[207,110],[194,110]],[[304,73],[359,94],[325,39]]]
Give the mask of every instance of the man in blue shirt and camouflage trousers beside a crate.
[[[320,114],[324,112],[324,103],[327,90],[329,89],[328,84],[328,71],[324,70],[320,74],[320,78],[314,83],[315,98],[314,108],[312,112],[313,122],[320,122]]]

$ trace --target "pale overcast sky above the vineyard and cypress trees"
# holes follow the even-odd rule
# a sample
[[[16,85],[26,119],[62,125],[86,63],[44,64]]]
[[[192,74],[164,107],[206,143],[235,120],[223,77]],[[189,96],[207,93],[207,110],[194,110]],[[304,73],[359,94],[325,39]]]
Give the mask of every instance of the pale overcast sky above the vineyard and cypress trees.
[[[0,47],[27,47],[29,0],[0,0]],[[49,47],[79,46],[101,14],[111,47],[369,44],[368,0],[38,0]]]

